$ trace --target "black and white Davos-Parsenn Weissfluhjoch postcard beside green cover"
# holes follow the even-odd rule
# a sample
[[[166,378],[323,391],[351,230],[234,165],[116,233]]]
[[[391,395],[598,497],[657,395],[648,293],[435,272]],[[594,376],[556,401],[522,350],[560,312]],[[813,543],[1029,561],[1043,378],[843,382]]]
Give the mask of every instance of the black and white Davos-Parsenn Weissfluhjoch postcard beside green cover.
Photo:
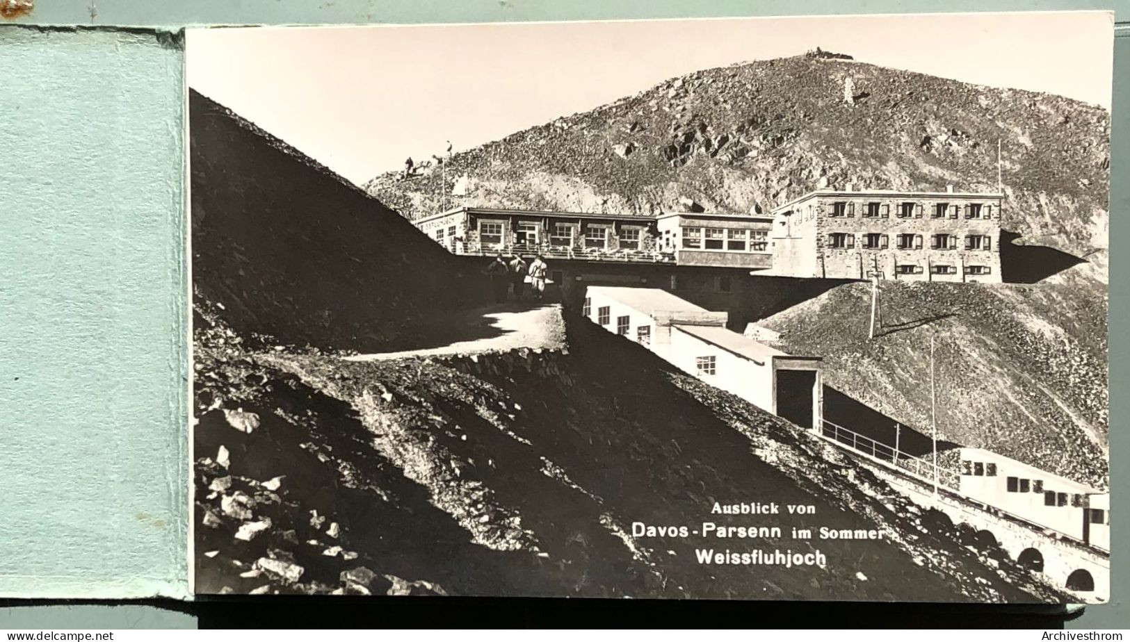
[[[1112,38],[191,29],[197,592],[1107,600]]]

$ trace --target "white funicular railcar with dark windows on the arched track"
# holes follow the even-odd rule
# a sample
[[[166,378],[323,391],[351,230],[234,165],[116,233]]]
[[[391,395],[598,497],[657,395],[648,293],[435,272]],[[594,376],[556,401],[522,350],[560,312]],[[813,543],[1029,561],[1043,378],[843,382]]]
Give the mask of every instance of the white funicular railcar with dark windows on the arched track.
[[[981,448],[959,452],[970,499],[1110,551],[1110,494]]]

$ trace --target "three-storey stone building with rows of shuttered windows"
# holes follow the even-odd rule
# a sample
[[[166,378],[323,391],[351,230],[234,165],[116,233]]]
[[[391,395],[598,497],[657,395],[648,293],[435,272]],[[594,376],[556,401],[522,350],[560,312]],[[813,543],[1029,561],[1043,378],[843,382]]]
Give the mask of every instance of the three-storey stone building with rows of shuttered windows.
[[[1000,194],[817,190],[773,210],[772,273],[999,283]]]

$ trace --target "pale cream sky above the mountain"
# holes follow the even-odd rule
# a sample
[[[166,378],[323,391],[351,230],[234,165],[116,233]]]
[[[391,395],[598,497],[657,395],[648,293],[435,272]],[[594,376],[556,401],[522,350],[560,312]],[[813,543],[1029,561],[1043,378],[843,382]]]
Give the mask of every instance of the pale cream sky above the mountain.
[[[190,29],[189,86],[354,183],[668,78],[817,46],[1110,108],[1111,12]]]

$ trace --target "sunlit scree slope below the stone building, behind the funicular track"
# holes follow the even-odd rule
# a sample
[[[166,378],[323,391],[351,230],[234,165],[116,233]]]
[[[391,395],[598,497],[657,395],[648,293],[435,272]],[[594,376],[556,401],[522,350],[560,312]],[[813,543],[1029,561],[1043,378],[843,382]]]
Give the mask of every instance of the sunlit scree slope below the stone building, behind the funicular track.
[[[827,385],[927,434],[932,335],[940,439],[1106,486],[1105,299],[1052,283],[885,282],[879,302],[875,340],[863,283],[760,323],[783,350],[823,355]]]

